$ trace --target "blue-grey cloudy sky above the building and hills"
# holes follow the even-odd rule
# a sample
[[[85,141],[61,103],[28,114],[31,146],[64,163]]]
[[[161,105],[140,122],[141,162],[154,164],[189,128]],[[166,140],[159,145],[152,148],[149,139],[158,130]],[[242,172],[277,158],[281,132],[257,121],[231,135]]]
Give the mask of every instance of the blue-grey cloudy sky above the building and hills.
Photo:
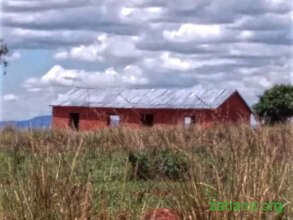
[[[289,0],[2,0],[2,119],[51,113],[73,86],[235,88],[252,105],[292,83]]]

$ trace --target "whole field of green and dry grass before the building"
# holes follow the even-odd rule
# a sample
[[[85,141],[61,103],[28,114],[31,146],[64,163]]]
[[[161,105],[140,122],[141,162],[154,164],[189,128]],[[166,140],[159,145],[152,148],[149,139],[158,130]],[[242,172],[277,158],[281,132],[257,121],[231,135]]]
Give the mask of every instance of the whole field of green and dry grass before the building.
[[[293,217],[293,127],[0,132],[0,219]],[[214,202],[281,202],[210,211]]]

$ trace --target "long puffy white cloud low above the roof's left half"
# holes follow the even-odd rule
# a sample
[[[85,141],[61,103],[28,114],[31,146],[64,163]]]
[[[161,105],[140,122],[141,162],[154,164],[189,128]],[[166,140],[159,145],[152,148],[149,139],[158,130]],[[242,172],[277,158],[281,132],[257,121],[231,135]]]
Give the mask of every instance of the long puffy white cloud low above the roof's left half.
[[[52,87],[131,87],[146,85],[148,80],[142,70],[135,65],[126,66],[117,72],[108,68],[104,72],[86,72],[54,66],[40,78],[30,78],[23,83],[28,91],[41,91]]]

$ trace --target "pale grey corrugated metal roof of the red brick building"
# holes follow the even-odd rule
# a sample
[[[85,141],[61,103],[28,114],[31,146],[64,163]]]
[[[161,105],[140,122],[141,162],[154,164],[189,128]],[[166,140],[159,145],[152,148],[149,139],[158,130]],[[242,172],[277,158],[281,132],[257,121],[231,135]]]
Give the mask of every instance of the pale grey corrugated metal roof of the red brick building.
[[[85,89],[74,88],[53,106],[111,108],[213,109],[236,90],[229,89]]]

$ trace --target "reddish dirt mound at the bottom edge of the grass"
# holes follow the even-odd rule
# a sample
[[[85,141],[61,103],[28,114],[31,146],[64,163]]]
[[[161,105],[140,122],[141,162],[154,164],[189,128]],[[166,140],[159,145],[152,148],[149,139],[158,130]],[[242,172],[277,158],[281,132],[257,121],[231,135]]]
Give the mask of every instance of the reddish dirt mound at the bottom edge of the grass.
[[[178,215],[170,209],[159,208],[148,211],[144,220],[179,220]]]

